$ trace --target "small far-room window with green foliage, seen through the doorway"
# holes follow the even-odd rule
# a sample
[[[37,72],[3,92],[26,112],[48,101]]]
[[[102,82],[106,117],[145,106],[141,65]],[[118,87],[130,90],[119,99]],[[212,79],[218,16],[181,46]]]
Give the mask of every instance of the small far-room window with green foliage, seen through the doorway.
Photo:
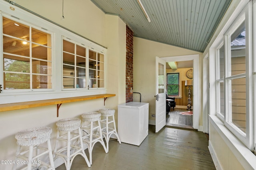
[[[179,73],[167,74],[167,94],[169,96],[179,96]]]

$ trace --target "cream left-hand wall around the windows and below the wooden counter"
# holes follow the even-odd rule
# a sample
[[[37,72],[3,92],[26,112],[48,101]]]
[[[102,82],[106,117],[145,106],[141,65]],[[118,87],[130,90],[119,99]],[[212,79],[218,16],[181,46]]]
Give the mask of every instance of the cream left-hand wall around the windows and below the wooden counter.
[[[17,146],[14,136],[20,130],[41,126],[51,127],[53,149],[56,138],[56,121],[67,117],[81,118],[80,115],[84,112],[98,111],[104,107],[117,111],[118,104],[125,102],[126,24],[118,16],[104,14],[88,0],[64,1],[65,19],[63,21],[62,0],[17,0],[16,3],[106,46],[106,93],[116,94],[116,96],[107,98],[106,106],[104,106],[103,98],[62,104],[59,109],[59,117],[56,117],[56,105],[0,112],[1,160],[14,159]],[[0,96],[0,100],[4,101],[4,98],[7,97]],[[117,115],[116,112],[116,122]],[[56,166],[58,165],[56,164]],[[11,165],[0,164],[1,170],[9,170],[11,167]]]

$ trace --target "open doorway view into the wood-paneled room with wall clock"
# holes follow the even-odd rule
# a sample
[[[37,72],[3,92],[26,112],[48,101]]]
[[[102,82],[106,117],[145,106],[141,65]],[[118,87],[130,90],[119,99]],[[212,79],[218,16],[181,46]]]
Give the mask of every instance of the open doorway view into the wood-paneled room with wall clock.
[[[193,61],[167,62],[166,84],[166,125],[193,129]]]

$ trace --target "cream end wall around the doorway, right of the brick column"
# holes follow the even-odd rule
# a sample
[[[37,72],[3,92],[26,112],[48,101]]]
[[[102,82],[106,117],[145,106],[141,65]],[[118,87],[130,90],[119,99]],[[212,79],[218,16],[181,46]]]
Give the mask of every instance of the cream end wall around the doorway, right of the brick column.
[[[202,84],[202,53],[166,45],[146,39],[134,37],[134,53],[133,53],[133,69],[134,69],[134,92],[142,94],[141,101],[149,103],[149,121],[154,124],[152,114],[155,114],[156,104],[156,56],[157,57],[172,57],[181,55],[199,54],[200,56],[200,86]],[[202,93],[200,92],[200,96]],[[202,103],[200,97],[199,103]],[[201,106],[200,106],[201,107]],[[200,108],[202,110],[202,108]],[[202,113],[199,113],[199,125],[202,125]]]

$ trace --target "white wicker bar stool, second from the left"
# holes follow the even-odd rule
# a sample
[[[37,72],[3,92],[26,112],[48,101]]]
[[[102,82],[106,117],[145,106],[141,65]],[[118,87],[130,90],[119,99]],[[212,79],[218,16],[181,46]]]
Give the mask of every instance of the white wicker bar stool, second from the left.
[[[57,125],[57,138],[54,147],[54,160],[56,158],[62,158],[65,162],[67,170],[70,170],[72,162],[76,155],[80,154],[84,157],[88,167],[90,162],[84,152],[82,133],[81,133],[81,119],[78,118],[66,118],[56,122]],[[78,131],[78,133],[76,132]],[[79,142],[78,142],[79,140]],[[65,147],[61,147],[57,150],[58,141],[64,141],[67,143]],[[75,145],[77,144],[77,145]]]

